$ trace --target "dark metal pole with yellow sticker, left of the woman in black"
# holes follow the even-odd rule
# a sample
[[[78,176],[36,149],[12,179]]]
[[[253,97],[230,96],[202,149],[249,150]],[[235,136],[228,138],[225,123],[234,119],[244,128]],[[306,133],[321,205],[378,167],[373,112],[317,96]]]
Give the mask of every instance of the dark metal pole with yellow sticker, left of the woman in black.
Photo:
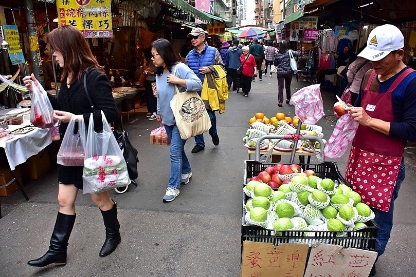
[[[34,11],[32,0],[23,0],[27,22],[27,32],[29,38],[30,57],[32,60],[33,74],[41,83],[45,84],[43,80],[41,53],[39,52],[38,32],[35,27]]]

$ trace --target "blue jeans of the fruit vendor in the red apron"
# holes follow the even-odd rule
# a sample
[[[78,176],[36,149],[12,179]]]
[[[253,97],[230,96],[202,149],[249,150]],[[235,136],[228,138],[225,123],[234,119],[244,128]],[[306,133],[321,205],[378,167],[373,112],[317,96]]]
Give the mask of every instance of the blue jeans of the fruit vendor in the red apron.
[[[388,212],[384,212],[377,209],[372,209],[375,213],[375,223],[378,225],[377,240],[375,243],[375,251],[378,256],[383,255],[386,249],[387,242],[390,239],[391,228],[393,227],[393,208],[394,200],[399,196],[399,189],[406,177],[406,169],[404,160],[400,165],[399,175],[396,178],[396,185],[394,186],[393,194],[391,195],[390,209]]]

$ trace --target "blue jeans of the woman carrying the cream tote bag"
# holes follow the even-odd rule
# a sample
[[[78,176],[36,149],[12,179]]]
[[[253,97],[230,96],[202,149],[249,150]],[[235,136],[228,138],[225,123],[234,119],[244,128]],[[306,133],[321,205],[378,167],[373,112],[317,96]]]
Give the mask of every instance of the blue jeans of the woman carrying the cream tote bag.
[[[170,178],[168,187],[178,189],[180,187],[180,174],[191,172],[191,165],[185,154],[186,140],[180,138],[178,127],[165,125],[166,133],[170,141]]]

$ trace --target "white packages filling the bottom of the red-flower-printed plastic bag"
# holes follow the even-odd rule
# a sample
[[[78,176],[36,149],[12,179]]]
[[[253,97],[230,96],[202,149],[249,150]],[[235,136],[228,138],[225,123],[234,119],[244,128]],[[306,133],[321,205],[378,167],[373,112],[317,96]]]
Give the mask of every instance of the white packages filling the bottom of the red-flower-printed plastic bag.
[[[83,193],[97,193],[131,183],[127,167],[114,155],[94,155],[84,161]]]

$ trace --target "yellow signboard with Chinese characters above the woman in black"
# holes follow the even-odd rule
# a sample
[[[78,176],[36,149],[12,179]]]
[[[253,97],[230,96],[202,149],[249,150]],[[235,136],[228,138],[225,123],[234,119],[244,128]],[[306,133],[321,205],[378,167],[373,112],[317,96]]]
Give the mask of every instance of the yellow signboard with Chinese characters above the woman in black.
[[[86,38],[112,37],[111,0],[57,0],[59,25],[72,25]]]

